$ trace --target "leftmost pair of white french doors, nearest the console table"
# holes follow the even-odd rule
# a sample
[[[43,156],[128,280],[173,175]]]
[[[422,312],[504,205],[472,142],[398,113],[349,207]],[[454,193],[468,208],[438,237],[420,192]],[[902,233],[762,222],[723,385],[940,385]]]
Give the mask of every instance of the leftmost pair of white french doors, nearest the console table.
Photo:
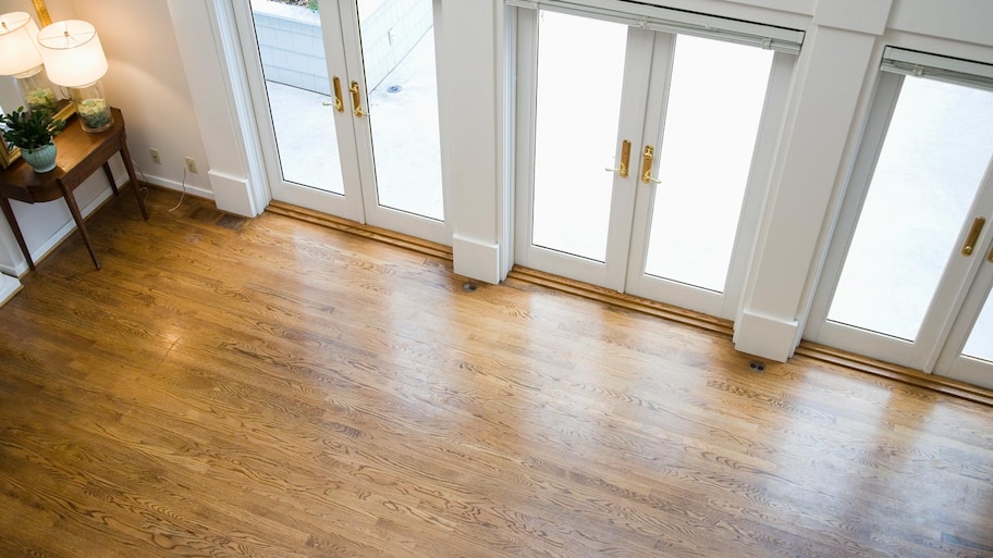
[[[440,0],[234,4],[273,198],[451,244]]]

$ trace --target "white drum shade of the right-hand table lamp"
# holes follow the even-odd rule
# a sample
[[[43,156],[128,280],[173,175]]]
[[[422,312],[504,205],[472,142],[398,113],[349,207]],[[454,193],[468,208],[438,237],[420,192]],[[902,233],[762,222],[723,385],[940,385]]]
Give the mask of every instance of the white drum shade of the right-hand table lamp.
[[[86,87],[107,73],[107,57],[93,25],[66,20],[38,33],[48,78],[63,87]]]

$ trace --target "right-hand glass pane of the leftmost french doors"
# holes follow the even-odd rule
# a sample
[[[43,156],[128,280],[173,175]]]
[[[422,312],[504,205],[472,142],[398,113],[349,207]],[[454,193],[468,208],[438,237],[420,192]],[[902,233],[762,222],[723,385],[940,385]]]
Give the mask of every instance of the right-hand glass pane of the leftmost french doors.
[[[444,220],[432,0],[359,0],[380,206]]]

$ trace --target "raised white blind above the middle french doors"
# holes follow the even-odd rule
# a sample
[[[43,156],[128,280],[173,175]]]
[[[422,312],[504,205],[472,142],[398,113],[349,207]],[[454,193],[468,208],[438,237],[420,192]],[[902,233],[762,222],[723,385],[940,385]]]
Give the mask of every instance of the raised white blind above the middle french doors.
[[[804,42],[801,30],[623,0],[506,0],[506,3],[516,8],[585,15],[633,27],[726,40],[792,54],[798,53]]]

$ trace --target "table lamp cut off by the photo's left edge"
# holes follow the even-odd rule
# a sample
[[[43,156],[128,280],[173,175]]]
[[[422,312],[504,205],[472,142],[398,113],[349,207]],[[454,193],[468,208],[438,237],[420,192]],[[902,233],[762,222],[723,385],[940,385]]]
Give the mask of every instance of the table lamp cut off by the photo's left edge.
[[[41,54],[36,47],[38,26],[30,15],[11,12],[0,15],[0,75],[14,76],[27,110],[44,109],[54,114],[58,100],[51,83],[41,70]]]

